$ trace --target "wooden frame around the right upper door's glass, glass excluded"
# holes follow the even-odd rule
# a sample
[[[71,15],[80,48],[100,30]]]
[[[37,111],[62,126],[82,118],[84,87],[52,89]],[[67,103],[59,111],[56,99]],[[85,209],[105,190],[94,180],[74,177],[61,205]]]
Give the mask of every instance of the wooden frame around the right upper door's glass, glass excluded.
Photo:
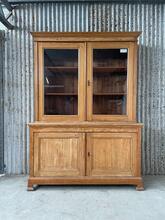
[[[127,48],[128,49],[128,71],[127,71],[127,114],[126,115],[94,115],[92,109],[93,103],[93,49],[114,49]],[[136,65],[134,62],[134,43],[132,42],[95,42],[87,44],[87,80],[90,82],[87,87],[87,119],[101,120],[101,121],[135,121],[136,120]]]

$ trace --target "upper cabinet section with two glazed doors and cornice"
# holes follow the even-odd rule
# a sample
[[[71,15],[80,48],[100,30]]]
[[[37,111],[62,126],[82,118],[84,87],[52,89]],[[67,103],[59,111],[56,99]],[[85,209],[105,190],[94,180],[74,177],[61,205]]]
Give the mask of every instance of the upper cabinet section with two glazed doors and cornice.
[[[136,121],[138,32],[32,34],[35,120]]]

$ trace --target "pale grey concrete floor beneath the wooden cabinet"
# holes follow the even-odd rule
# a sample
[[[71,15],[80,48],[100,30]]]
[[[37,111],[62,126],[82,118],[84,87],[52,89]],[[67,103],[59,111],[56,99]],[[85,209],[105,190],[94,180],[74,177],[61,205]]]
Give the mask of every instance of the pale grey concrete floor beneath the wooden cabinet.
[[[26,176],[0,177],[0,220],[164,220],[165,176],[133,186],[42,186],[27,192]]]

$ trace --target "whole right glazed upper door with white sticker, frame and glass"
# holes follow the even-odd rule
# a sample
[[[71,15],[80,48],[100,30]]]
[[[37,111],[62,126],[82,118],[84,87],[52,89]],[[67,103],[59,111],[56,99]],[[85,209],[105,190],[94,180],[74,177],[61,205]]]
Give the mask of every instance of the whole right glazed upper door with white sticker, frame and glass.
[[[135,120],[135,54],[132,42],[87,44],[88,120]]]

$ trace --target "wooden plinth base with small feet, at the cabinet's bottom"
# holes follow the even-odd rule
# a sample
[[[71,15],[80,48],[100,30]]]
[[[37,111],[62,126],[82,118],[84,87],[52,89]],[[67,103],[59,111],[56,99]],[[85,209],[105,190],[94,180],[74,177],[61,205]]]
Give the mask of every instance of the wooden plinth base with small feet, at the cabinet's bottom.
[[[141,177],[29,177],[28,191],[36,190],[38,185],[135,185],[136,190],[144,190]]]

